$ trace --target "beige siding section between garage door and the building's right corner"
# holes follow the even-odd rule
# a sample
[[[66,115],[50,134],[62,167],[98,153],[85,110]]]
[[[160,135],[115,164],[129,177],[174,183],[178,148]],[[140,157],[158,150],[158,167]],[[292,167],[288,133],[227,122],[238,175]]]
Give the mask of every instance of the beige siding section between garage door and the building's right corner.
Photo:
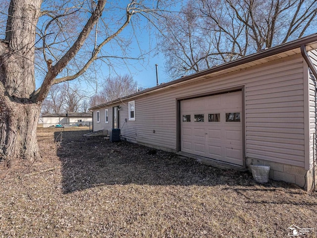
[[[303,64],[298,60],[288,64],[293,70],[274,67],[269,77],[247,83],[247,157],[304,167]]]

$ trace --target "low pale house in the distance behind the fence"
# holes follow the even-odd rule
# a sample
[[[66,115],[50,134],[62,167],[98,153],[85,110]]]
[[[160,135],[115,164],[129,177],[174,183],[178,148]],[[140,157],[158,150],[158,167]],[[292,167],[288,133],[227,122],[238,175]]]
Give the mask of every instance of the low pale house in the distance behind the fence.
[[[92,113],[43,114],[43,127],[92,121]]]

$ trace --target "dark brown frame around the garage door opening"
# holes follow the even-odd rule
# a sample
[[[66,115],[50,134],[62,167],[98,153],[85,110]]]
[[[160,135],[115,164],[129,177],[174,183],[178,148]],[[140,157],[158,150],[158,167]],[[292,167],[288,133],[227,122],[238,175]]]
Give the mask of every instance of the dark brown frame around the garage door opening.
[[[179,97],[176,98],[176,151],[181,151],[181,108],[180,108],[180,102],[188,99],[193,98],[202,98],[202,97],[208,97],[218,94],[225,94],[225,93],[231,93],[231,92],[238,92],[241,91],[242,93],[242,113],[241,113],[241,119],[242,119],[242,160],[243,160],[243,168],[246,168],[246,121],[245,121],[245,85],[240,85],[237,87],[232,88],[226,88],[222,90],[216,90],[211,91],[208,93],[201,93],[201,94],[195,94],[195,95],[189,95],[185,97]]]

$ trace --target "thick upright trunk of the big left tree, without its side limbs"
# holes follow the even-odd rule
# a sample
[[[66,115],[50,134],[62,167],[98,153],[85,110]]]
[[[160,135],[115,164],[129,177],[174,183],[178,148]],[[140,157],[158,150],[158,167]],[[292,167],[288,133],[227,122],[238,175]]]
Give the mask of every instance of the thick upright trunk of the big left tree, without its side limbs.
[[[42,0],[11,0],[5,39],[0,41],[0,160],[30,162],[38,156],[36,138],[41,102],[35,92],[34,45]]]

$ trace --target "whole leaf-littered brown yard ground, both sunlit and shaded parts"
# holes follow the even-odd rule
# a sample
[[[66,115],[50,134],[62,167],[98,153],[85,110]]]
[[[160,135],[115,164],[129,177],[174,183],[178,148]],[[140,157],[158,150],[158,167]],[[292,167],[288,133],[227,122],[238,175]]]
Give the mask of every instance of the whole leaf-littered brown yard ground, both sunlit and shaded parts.
[[[59,130],[38,128],[32,165],[1,168],[1,238],[317,237],[316,192]]]

